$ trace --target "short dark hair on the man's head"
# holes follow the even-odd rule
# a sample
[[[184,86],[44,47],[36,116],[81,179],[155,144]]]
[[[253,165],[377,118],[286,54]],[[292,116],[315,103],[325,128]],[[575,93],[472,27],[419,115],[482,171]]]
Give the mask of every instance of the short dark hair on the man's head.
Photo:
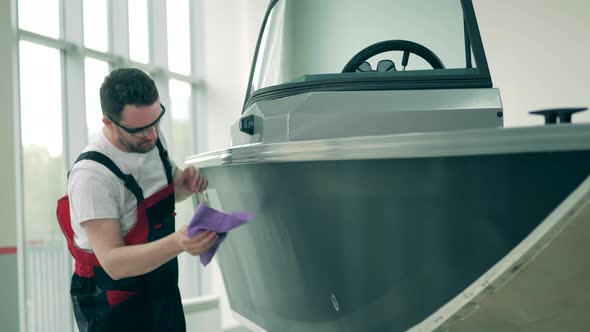
[[[136,68],[113,70],[100,87],[102,114],[117,121],[126,105],[148,106],[158,98],[154,80]]]

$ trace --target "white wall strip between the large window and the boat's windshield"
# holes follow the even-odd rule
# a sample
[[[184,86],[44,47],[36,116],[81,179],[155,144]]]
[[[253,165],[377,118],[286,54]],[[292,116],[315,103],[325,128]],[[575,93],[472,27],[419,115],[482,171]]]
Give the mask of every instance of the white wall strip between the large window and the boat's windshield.
[[[229,145],[229,126],[244,102],[258,30],[268,0],[206,0],[205,35],[206,130],[205,151]]]

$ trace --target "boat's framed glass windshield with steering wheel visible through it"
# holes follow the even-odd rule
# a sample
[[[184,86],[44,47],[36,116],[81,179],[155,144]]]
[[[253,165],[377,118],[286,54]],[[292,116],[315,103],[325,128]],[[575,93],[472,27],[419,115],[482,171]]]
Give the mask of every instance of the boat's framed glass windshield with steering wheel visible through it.
[[[433,75],[441,83],[478,78],[480,87],[484,76],[483,85],[491,86],[471,1],[275,0],[259,36],[246,101],[269,88],[324,83],[432,85]]]

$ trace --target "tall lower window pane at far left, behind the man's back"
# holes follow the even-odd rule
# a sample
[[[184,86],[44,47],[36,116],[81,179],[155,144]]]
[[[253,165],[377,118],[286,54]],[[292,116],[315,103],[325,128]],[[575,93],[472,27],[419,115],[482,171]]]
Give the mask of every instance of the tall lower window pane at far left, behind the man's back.
[[[51,218],[65,190],[60,52],[27,41],[19,48],[27,325],[58,331],[70,317],[59,309],[69,302],[70,264]]]

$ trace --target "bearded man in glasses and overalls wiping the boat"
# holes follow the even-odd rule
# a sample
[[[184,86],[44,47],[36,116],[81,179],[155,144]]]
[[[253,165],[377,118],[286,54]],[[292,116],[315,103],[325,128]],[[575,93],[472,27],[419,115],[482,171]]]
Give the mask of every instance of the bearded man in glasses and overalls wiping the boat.
[[[202,192],[207,181],[170,162],[159,135],[166,108],[148,75],[111,72],[100,101],[102,132],[74,164],[58,204],[75,260],[70,292],[78,328],[184,331],[176,256],[200,255],[218,236],[175,232],[174,202]]]

